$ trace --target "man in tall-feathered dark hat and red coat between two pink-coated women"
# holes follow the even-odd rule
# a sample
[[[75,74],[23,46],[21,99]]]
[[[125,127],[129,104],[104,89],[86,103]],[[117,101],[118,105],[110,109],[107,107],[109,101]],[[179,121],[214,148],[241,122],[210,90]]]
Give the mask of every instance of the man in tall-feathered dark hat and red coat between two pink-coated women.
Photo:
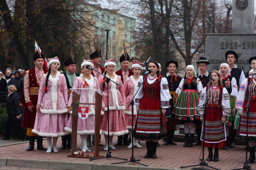
[[[122,83],[124,84],[124,82],[126,81],[126,78],[133,75],[132,70],[129,68],[130,57],[126,52],[125,48],[124,48],[124,54],[120,57],[119,61],[120,61],[121,69],[116,71],[116,75],[121,76]],[[124,136],[122,135],[118,136],[118,140],[115,146],[122,145],[122,143],[127,146],[130,145],[130,143],[128,142],[128,134],[125,134]]]

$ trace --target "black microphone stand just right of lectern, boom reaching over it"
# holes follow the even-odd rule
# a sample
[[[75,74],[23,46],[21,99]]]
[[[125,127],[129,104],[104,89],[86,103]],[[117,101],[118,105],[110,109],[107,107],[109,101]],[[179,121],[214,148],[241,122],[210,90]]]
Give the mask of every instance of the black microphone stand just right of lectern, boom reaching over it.
[[[91,68],[90,66],[88,66],[88,67],[86,67],[86,68],[98,72],[98,70],[95,70],[94,68]],[[119,86],[118,83],[114,82],[114,81],[111,80],[109,77],[107,77],[107,76],[105,76],[104,74],[102,74],[101,72],[98,72],[98,73],[101,74],[102,76],[104,76],[105,82],[107,83],[107,85],[109,84],[109,81],[112,81],[113,83],[115,83],[116,85]],[[108,86],[107,86],[107,87],[108,87]],[[108,94],[108,97],[109,97],[109,94]],[[111,152],[109,151],[109,146],[110,146],[110,145],[109,145],[109,104],[108,104],[108,119],[107,119],[107,121],[108,121],[108,152],[107,152],[107,154],[106,154],[105,157],[90,158],[90,160],[96,160],[96,159],[102,159],[102,158],[116,158],[116,159],[128,160],[128,159],[124,159],[124,158],[113,157],[113,156],[111,156]],[[107,142],[107,141],[106,141],[106,142]]]

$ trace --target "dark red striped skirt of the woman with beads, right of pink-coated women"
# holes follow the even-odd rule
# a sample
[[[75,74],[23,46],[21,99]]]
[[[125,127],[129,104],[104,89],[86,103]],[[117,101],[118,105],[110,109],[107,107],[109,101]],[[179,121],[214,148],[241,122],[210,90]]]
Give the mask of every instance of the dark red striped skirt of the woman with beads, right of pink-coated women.
[[[160,99],[140,101],[138,119],[134,128],[134,137],[142,141],[160,140],[166,136],[166,127],[160,109]]]

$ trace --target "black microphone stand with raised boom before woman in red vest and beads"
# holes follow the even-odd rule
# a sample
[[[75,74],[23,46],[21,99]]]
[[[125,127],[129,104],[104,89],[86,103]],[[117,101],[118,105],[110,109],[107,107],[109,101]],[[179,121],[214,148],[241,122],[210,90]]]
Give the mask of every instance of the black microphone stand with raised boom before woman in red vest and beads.
[[[144,81],[146,80],[147,76],[148,76],[149,72],[146,74],[144,80],[142,81],[142,84],[144,83]],[[142,86],[142,84],[140,84],[139,88],[137,89],[137,92],[135,93],[135,95],[133,96],[132,100],[130,101],[130,103],[128,104],[127,107],[130,107],[130,105],[132,105],[132,133],[133,133],[133,117],[134,117],[134,110],[133,110],[133,106],[134,106],[134,98],[136,96],[136,94],[138,93],[138,91],[140,90],[140,87]],[[137,117],[137,120],[138,120],[138,117]],[[136,121],[137,122],[137,121]],[[143,166],[148,166],[148,165],[145,165],[145,164],[142,164],[140,162],[140,159],[136,160],[135,157],[133,156],[133,135],[132,135],[132,156],[130,158],[130,160],[128,161],[123,161],[123,162],[115,162],[115,163],[110,163],[110,164],[121,164],[121,163],[127,163],[127,162],[135,162],[137,164],[141,164]]]

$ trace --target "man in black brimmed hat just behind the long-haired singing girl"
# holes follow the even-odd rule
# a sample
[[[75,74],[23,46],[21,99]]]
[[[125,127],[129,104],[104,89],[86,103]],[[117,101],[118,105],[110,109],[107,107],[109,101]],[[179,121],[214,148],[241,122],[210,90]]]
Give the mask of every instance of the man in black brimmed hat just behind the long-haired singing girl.
[[[197,74],[197,77],[201,80],[203,88],[205,88],[210,80],[210,74],[207,71],[208,64],[210,62],[205,58],[205,57],[200,57],[199,61],[196,62],[198,64],[198,68],[200,72]],[[201,133],[202,133],[202,122],[200,124],[196,125],[196,136],[197,136],[197,141],[194,144],[194,146],[201,145]]]

